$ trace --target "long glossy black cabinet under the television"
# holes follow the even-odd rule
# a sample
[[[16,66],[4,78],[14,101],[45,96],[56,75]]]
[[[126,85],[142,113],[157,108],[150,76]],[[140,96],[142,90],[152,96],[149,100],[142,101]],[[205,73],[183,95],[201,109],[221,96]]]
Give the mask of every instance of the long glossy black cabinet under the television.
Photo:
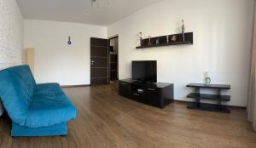
[[[137,80],[119,80],[119,95],[147,105],[164,108],[173,102],[172,83],[142,83]]]

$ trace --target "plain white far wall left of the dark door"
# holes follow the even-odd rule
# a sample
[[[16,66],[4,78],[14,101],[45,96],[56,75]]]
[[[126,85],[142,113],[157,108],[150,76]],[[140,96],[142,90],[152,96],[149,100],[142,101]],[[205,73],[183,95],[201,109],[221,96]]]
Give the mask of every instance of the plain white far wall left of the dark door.
[[[47,20],[25,20],[24,47],[35,48],[37,83],[90,84],[90,37],[107,37],[107,28]],[[67,45],[71,36],[72,45]]]

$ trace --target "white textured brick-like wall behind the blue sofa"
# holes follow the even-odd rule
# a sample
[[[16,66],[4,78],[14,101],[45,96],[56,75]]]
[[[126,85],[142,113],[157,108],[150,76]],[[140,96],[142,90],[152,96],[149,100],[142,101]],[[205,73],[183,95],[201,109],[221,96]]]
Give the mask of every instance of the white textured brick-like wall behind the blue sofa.
[[[22,60],[23,18],[15,0],[0,1],[0,70],[20,65]],[[3,110],[0,105],[0,115]]]

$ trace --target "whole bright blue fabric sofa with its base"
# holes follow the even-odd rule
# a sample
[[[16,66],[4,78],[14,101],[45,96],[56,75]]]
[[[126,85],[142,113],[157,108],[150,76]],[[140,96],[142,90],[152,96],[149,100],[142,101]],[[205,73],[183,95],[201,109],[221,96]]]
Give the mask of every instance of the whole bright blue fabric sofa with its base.
[[[77,111],[58,83],[36,84],[28,65],[0,71],[0,98],[12,136],[67,135]]]

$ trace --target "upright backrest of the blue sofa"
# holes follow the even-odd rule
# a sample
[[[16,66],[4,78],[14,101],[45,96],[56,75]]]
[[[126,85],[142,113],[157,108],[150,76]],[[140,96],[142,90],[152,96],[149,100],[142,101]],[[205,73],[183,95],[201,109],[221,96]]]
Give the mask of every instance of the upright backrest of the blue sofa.
[[[19,65],[0,71],[0,98],[13,122],[22,122],[32,102],[36,86],[28,65]]]

